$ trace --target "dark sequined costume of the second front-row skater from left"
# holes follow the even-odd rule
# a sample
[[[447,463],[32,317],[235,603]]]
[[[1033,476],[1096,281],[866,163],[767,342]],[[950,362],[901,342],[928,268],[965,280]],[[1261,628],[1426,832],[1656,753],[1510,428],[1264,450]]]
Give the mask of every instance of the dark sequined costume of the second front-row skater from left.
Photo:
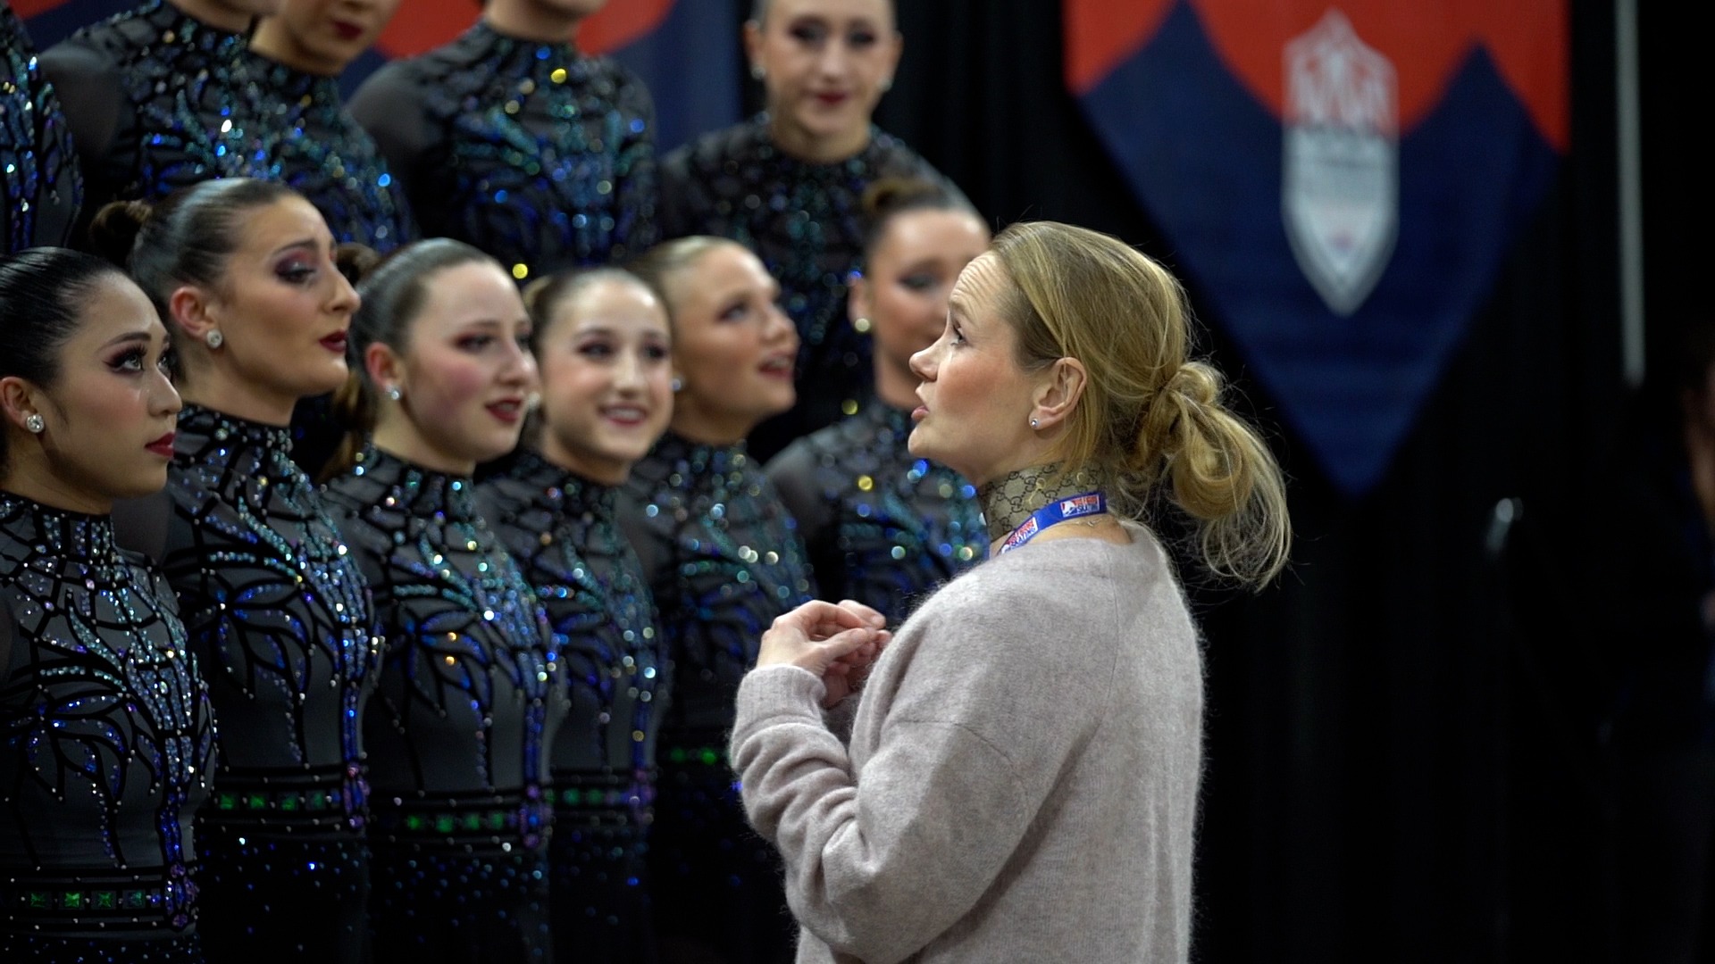
[[[173,449],[166,491],[120,515],[178,593],[221,719],[202,942],[218,959],[362,961],[369,590],[286,429],[187,405]]]

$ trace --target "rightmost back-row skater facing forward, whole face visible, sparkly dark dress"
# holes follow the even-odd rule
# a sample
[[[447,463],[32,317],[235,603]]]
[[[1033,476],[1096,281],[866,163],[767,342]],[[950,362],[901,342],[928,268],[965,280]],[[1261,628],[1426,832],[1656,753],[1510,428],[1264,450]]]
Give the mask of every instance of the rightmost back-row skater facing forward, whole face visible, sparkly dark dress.
[[[765,110],[662,158],[660,226],[665,238],[743,242],[784,288],[801,343],[797,405],[751,439],[753,455],[772,458],[870,391],[868,338],[845,316],[864,190],[887,177],[943,178],[871,120],[902,50],[892,0],[765,0],[744,46]]]

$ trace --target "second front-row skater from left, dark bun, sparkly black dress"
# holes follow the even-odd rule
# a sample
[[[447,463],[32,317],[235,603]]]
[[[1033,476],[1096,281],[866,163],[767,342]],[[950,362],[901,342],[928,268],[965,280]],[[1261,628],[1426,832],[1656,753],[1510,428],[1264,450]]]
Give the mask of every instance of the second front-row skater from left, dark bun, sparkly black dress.
[[[172,326],[185,410],[170,484],[120,511],[159,561],[225,720],[199,844],[214,959],[364,961],[360,719],[379,643],[369,587],[297,463],[293,405],[345,383],[357,293],[321,214],[262,180],[113,204],[91,237]]]

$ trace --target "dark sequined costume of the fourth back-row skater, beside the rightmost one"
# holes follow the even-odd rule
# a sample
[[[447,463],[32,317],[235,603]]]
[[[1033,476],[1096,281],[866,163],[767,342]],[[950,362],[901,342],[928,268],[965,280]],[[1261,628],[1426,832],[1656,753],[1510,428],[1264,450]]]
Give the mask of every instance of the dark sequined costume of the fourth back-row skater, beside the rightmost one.
[[[520,280],[655,244],[655,108],[612,60],[477,22],[377,70],[352,113],[425,237],[470,242]]]

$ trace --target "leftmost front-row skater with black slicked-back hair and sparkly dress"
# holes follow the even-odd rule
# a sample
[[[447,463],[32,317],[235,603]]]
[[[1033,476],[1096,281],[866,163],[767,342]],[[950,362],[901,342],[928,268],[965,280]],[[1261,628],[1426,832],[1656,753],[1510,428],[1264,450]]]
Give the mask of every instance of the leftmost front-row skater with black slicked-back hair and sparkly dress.
[[[173,593],[118,549],[166,484],[166,329],[118,269],[0,257],[0,959],[197,964],[214,732]]]

